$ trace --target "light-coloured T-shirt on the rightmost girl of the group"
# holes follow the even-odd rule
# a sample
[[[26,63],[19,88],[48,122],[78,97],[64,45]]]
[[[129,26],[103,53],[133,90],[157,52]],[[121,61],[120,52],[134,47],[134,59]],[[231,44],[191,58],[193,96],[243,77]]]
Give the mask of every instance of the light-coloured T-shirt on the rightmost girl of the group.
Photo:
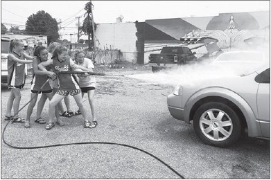
[[[76,64],[78,64],[79,66],[83,66],[87,69],[94,69],[94,64],[92,63],[92,61],[88,58],[84,58],[84,62],[82,62],[82,64],[80,64],[79,62],[76,62]],[[79,84],[80,87],[96,87],[96,79],[94,77],[94,75],[78,75],[79,78]]]

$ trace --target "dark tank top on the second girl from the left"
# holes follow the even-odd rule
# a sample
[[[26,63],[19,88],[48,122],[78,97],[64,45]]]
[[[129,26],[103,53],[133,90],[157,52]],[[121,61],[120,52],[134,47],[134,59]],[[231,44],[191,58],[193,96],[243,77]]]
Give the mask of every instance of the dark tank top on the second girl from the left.
[[[37,61],[37,64],[40,64],[41,61],[40,61],[40,57],[34,57],[33,61]],[[47,66],[46,67],[47,71],[49,71],[49,67]],[[51,90],[51,86],[49,84],[49,82],[47,82],[44,87],[41,89],[42,85],[44,84],[44,82],[46,82],[47,80],[47,75],[38,75],[38,74],[35,74],[34,73],[34,70],[33,70],[33,79],[31,81],[31,90],[33,91],[49,91]]]

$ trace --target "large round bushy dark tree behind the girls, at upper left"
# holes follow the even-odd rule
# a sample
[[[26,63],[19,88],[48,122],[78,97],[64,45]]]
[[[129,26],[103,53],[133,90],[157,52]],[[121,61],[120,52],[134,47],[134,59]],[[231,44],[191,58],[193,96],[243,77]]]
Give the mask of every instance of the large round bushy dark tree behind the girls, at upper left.
[[[47,35],[47,42],[56,42],[59,38],[58,21],[44,10],[30,15],[26,21],[26,33],[35,35]]]

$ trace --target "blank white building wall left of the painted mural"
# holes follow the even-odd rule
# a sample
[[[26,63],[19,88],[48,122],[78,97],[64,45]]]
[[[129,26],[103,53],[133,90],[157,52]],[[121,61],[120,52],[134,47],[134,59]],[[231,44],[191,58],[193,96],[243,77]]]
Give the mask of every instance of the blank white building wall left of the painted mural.
[[[134,23],[97,24],[96,46],[119,49],[127,62],[137,62],[137,28]]]

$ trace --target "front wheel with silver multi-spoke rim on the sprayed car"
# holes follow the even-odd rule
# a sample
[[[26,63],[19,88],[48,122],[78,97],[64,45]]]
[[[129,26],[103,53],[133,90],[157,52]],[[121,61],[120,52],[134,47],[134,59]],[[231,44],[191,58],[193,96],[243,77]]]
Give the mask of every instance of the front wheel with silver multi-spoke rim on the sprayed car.
[[[193,127],[200,140],[208,145],[227,147],[241,137],[241,120],[228,105],[207,102],[194,114]]]

